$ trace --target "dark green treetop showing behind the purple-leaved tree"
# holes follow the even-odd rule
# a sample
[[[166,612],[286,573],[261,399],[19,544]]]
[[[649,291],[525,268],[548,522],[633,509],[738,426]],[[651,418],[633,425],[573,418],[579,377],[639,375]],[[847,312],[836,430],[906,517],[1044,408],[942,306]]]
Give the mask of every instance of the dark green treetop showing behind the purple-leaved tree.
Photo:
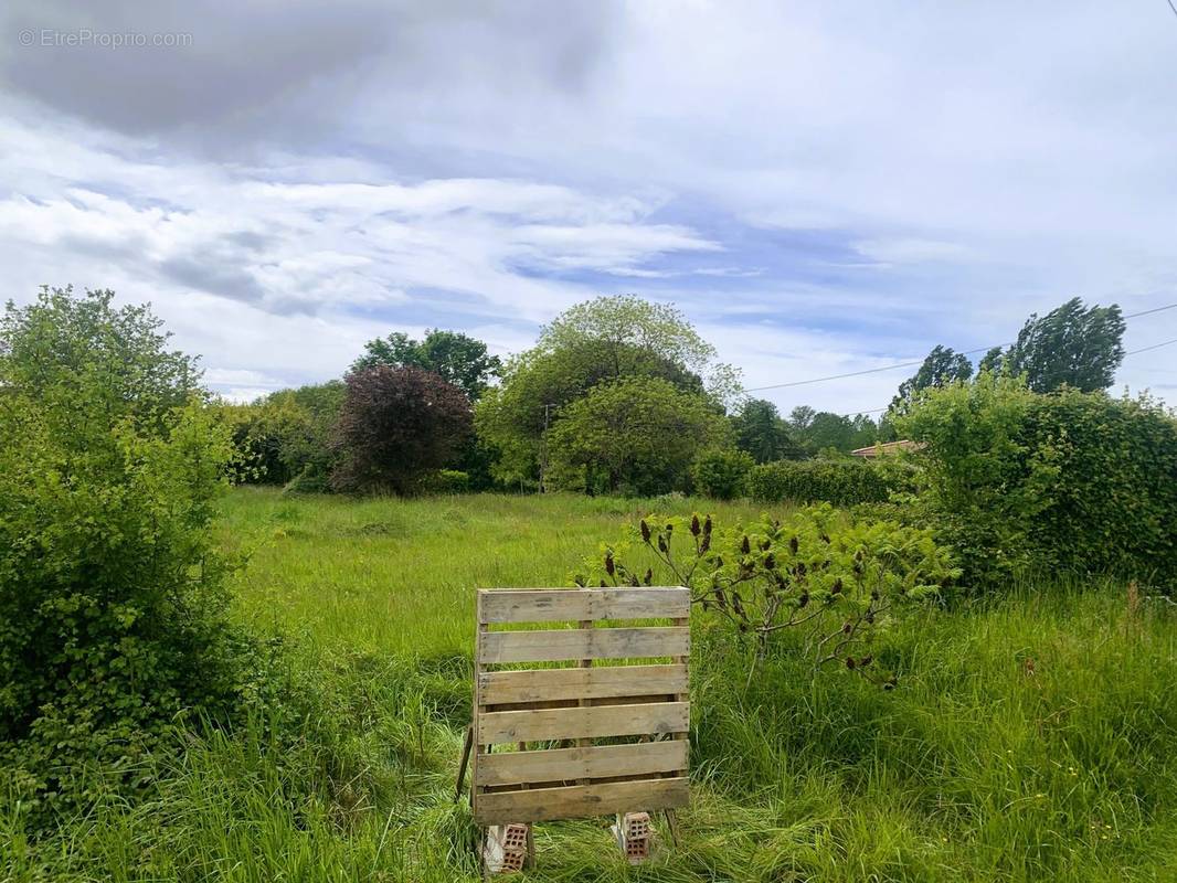
[[[413,340],[394,331],[386,338],[370,340],[364,348],[366,352],[352,364],[352,371],[377,365],[424,369],[440,374],[471,401],[478,401],[503,366],[498,356],[486,354],[486,344],[481,340],[439,328],[427,331],[424,340]]]

